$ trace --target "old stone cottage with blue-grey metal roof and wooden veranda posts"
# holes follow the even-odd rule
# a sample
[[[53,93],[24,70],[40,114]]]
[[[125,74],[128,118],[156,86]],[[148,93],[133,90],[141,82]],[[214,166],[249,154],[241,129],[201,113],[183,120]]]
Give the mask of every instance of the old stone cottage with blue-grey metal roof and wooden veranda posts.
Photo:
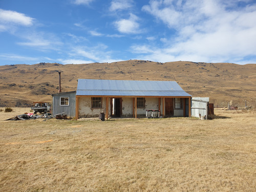
[[[78,79],[75,118],[145,117],[159,110],[162,117],[191,116],[191,95],[175,81]]]

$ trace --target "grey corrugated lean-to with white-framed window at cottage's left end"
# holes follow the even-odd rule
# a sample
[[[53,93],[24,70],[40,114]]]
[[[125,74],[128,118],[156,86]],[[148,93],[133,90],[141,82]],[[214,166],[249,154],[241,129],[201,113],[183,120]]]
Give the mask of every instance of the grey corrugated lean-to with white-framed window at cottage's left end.
[[[52,94],[52,115],[65,113],[68,117],[75,117],[76,91]]]

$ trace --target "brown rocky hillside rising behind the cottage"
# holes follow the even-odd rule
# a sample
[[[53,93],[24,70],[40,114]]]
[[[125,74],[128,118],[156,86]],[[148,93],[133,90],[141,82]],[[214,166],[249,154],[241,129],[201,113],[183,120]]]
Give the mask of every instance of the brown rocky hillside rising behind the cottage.
[[[0,106],[30,106],[33,101],[51,101],[61,90],[74,91],[78,78],[119,80],[173,80],[193,96],[210,97],[219,106],[256,104],[256,64],[190,61],[153,62],[127,60],[112,63],[0,66]]]

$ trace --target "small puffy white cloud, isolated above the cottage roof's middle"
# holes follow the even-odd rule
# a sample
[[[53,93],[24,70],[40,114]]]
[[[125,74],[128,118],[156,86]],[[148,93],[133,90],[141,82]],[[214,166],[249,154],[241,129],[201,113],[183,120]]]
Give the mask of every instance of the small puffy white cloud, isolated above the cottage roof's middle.
[[[138,19],[139,18],[136,15],[130,13],[129,19],[118,20],[115,22],[115,26],[120,33],[141,33],[137,22]]]

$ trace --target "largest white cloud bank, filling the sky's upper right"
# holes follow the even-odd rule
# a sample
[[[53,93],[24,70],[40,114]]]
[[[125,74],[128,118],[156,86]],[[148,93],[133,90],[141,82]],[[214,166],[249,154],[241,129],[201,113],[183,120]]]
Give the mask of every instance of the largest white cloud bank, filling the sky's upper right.
[[[180,1],[150,1],[142,10],[174,29],[176,34],[172,38],[161,38],[165,43],[163,48],[154,50],[148,45],[141,56],[161,62],[170,58],[240,62],[247,55],[255,55],[255,5],[243,8],[226,2],[229,1],[187,0],[182,4]],[[145,50],[154,50],[154,53],[145,53]]]

